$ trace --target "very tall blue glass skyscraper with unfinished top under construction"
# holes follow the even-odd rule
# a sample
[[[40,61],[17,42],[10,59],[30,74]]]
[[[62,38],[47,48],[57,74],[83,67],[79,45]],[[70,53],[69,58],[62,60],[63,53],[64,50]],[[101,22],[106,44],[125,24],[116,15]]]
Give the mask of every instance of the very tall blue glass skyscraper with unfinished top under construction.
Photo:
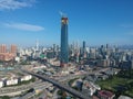
[[[64,66],[69,62],[69,45],[68,45],[68,18],[61,18],[61,56],[60,65]]]

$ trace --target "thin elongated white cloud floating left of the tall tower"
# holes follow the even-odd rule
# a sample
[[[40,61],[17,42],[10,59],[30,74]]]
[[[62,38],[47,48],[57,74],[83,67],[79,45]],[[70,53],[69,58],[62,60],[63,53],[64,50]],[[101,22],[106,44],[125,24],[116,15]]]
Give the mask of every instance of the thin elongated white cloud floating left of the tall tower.
[[[43,26],[27,24],[27,23],[4,23],[3,25],[7,28],[11,28],[11,29],[17,29],[17,30],[22,30],[22,31],[32,31],[32,32],[44,30]]]

